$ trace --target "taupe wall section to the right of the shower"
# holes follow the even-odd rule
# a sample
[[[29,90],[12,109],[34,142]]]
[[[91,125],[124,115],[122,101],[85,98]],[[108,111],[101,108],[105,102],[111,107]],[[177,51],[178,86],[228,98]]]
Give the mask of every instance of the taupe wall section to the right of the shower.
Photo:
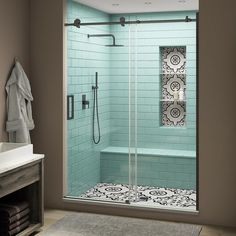
[[[236,1],[200,3],[200,219],[236,226]]]

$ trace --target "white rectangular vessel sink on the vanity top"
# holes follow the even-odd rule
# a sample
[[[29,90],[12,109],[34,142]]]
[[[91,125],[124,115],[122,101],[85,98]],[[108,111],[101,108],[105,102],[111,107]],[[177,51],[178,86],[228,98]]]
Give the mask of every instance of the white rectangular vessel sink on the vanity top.
[[[32,144],[0,143],[0,173],[28,162],[32,157]]]

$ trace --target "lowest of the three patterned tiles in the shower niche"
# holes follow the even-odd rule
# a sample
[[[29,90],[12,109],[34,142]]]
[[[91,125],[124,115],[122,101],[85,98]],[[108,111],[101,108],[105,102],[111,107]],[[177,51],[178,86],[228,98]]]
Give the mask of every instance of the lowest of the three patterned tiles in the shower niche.
[[[186,118],[185,102],[163,102],[162,124],[165,126],[184,126]]]

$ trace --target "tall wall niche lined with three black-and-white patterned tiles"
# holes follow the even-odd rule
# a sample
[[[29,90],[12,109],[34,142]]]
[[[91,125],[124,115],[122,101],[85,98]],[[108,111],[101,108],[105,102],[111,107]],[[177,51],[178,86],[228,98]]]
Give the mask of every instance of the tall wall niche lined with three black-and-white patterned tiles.
[[[175,100],[174,93],[186,94],[186,47],[161,47],[163,126],[185,126],[185,101]]]

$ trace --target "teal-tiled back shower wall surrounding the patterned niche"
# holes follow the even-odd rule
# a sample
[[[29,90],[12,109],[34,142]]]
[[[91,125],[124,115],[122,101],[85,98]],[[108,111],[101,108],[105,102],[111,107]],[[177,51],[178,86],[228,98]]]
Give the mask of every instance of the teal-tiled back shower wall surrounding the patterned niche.
[[[131,20],[184,19],[186,15],[196,18],[194,12],[135,14],[125,17],[127,20],[129,17]],[[121,15],[114,15],[112,20],[117,21],[120,17]],[[112,27],[117,43],[126,47],[111,51],[111,146],[122,147],[128,144],[128,29],[128,25]],[[135,26],[131,26],[133,60],[135,60],[135,44],[137,46],[138,147],[195,150],[196,23],[140,24],[137,25],[137,32],[135,31]],[[161,126],[160,47],[164,46],[186,46],[185,127]]]

